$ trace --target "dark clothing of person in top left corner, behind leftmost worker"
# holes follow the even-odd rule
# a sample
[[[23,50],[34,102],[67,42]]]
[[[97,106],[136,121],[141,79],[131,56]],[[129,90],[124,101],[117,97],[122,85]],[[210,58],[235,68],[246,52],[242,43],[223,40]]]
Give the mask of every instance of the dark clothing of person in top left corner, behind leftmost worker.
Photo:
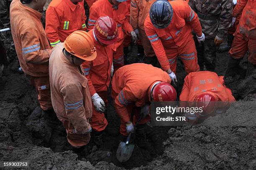
[[[0,27],[10,25],[10,3],[12,0],[0,0]]]

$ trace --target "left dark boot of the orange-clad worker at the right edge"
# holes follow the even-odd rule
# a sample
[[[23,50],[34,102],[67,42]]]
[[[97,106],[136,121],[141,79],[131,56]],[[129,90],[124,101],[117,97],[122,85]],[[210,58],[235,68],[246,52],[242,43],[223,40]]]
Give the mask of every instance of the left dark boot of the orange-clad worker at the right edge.
[[[239,67],[241,59],[234,59],[233,57],[229,57],[228,67],[225,72],[225,83],[233,82],[233,77],[236,75],[236,72]]]

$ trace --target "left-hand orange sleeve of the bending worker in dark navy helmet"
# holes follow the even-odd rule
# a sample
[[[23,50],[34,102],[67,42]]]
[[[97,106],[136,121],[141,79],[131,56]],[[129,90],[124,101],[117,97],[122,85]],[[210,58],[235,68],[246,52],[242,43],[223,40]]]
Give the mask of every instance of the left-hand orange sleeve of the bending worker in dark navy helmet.
[[[148,39],[154,49],[154,52],[156,53],[156,57],[164,71],[167,71],[170,69],[170,64],[167,59],[164,46],[159,38],[159,36],[156,34],[156,31],[154,30],[153,25],[150,25],[149,22],[147,22],[149,18],[147,17],[144,22],[144,28],[146,35],[148,36]]]

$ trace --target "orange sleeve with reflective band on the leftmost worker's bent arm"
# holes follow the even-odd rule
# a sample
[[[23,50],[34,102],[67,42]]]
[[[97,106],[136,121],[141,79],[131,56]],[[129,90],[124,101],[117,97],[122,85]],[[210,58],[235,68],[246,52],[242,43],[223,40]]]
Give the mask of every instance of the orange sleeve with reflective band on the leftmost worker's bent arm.
[[[28,25],[20,28],[21,48],[24,60],[32,64],[47,63],[49,62],[51,50],[41,50],[39,35],[33,32],[33,30],[34,28],[28,27]]]

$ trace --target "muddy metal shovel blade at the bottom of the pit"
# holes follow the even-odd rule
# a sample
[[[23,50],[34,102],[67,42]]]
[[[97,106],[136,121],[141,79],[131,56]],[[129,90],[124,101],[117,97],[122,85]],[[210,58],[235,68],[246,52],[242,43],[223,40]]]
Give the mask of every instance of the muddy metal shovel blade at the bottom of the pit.
[[[133,144],[126,145],[124,142],[120,142],[116,151],[116,158],[120,163],[128,161],[133,154],[133,149]]]

